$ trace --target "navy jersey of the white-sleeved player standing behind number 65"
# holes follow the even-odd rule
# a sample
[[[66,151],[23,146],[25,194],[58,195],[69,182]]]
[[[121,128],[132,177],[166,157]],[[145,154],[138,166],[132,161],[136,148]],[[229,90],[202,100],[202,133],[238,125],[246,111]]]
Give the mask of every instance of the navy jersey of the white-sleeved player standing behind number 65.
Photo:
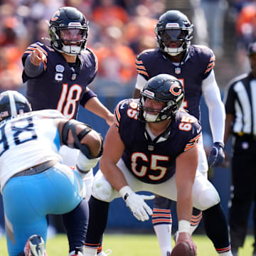
[[[178,66],[171,63],[159,48],[144,50],[136,60],[137,72],[146,80],[164,73],[178,78],[185,90],[183,108],[199,120],[202,81],[214,65],[215,55],[206,46],[190,46],[186,61]]]

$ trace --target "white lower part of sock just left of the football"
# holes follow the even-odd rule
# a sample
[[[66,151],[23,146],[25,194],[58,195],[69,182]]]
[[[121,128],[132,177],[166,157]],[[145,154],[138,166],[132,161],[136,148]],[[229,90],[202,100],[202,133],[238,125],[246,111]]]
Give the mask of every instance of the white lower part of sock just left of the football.
[[[161,255],[166,256],[171,252],[171,224],[154,225],[156,238],[159,241]]]

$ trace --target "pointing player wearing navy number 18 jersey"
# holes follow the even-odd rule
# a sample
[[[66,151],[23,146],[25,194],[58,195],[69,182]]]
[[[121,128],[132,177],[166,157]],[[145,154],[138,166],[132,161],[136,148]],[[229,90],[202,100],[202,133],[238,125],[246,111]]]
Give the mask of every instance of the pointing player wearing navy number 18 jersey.
[[[111,125],[113,114],[87,87],[97,73],[97,57],[86,47],[89,25],[85,16],[78,9],[63,7],[55,11],[48,25],[50,46],[32,43],[22,56],[22,78],[33,110],[55,109],[68,119],[76,119],[81,105]],[[64,145],[60,155],[64,164],[75,166],[77,150]],[[90,170],[85,177],[87,199],[92,178]]]

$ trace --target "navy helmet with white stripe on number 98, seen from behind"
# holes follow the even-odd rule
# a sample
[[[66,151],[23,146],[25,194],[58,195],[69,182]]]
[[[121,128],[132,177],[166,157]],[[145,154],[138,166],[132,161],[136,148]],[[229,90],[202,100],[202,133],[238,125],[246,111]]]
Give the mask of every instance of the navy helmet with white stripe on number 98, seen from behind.
[[[15,90],[7,90],[0,94],[0,122],[17,114],[31,112],[31,105],[26,97]]]

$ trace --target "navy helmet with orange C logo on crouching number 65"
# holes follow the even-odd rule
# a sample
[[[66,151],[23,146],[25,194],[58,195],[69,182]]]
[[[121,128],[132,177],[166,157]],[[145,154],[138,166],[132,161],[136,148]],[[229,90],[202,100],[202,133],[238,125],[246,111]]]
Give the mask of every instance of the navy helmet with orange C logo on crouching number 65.
[[[145,107],[146,98],[164,102],[164,108],[161,110]],[[170,119],[181,107],[184,99],[184,90],[181,82],[173,75],[161,74],[150,78],[139,99],[138,119],[144,122],[161,122]],[[154,112],[155,114],[149,114]]]

